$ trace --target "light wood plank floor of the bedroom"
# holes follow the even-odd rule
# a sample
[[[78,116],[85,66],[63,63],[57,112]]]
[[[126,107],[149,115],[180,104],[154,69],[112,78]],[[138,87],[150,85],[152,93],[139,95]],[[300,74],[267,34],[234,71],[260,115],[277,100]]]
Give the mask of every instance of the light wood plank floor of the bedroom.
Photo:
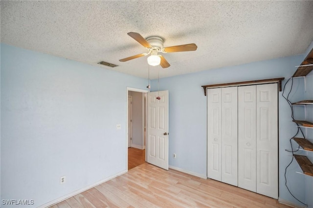
[[[238,187],[147,163],[51,208],[105,207],[289,208]]]

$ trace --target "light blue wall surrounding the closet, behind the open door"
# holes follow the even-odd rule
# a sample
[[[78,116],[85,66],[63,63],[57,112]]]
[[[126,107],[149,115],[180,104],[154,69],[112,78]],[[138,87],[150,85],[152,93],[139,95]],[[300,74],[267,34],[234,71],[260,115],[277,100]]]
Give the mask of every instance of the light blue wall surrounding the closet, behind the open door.
[[[169,155],[177,154],[177,159],[169,158],[169,165],[206,176],[207,111],[201,85],[285,77],[284,85],[296,70],[294,66],[302,61],[300,55],[160,79],[159,90],[169,90]],[[152,91],[158,90],[157,85],[157,80],[153,80]],[[303,81],[294,80],[293,87],[303,92]],[[303,95],[293,93],[290,99]],[[284,178],[285,167],[291,161],[291,154],[285,149],[291,148],[289,139],[295,132],[291,108],[279,92],[279,197],[298,203],[285,187]],[[292,184],[291,191],[304,200],[304,178],[295,171],[301,171],[297,165],[290,168],[288,183]]]

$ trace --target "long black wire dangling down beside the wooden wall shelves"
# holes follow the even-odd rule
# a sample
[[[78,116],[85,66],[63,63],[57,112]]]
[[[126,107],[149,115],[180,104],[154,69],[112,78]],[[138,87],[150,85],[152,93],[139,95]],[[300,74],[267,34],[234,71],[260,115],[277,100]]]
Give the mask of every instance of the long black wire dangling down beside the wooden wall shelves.
[[[290,80],[291,80],[291,88],[290,88],[290,91],[289,91],[289,93],[288,93],[288,95],[287,95],[287,98],[286,98],[286,97],[284,96],[285,87],[286,87],[286,84],[287,84]],[[292,118],[292,120],[294,120],[294,118],[293,118],[293,107],[292,107],[291,101],[289,100],[289,95],[290,95],[291,90],[292,90],[292,85],[293,85],[293,77],[289,78],[289,79],[287,80],[287,82],[285,83],[282,96],[283,96],[283,98],[285,98],[285,100],[286,100],[286,101],[288,102],[288,104],[290,105],[290,108],[291,108],[291,118]],[[289,187],[287,186],[287,177],[286,177],[287,168],[291,165],[291,163],[292,163],[292,161],[293,161],[293,152],[298,151],[298,150],[299,150],[299,147],[300,147],[300,146],[299,146],[296,151],[293,151],[293,147],[292,147],[291,140],[292,140],[295,136],[297,136],[297,134],[299,133],[299,130],[301,131],[303,138],[305,138],[301,127],[300,127],[298,124],[297,124],[297,127],[298,127],[298,130],[297,130],[296,134],[289,140],[290,146],[291,146],[291,151],[286,150],[286,151],[288,151],[288,152],[292,152],[292,158],[291,158],[291,161],[290,161],[290,163],[288,164],[288,166],[286,166],[286,168],[285,168],[285,174],[284,174],[284,175],[285,175],[285,186],[287,187],[287,190],[289,191],[289,193],[291,194],[291,196],[293,196],[293,198],[295,198],[295,199],[296,199],[298,202],[300,202],[301,204],[303,204],[303,205],[305,205],[305,206],[308,206],[307,204],[305,204],[305,203],[301,202],[300,200],[298,200],[298,199],[291,193],[291,191],[289,190]]]

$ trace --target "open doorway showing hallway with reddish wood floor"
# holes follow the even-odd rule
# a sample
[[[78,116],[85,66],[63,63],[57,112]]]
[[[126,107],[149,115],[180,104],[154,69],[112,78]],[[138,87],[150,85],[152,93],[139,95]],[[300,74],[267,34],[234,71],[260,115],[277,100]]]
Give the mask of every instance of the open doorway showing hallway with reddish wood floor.
[[[146,161],[146,97],[148,90],[127,88],[127,169]]]

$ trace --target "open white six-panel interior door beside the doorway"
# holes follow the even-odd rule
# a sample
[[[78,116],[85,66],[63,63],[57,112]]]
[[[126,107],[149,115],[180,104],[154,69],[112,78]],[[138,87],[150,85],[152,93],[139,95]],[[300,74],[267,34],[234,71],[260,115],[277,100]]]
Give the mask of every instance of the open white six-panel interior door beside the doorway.
[[[168,90],[147,97],[147,162],[168,170]]]

